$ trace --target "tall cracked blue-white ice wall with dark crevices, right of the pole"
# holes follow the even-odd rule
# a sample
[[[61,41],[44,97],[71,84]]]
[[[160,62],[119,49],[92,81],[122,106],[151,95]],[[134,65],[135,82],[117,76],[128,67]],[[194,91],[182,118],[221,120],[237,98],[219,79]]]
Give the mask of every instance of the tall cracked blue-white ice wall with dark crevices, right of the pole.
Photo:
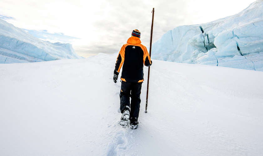
[[[263,71],[263,0],[233,16],[179,26],[152,45],[152,59]]]

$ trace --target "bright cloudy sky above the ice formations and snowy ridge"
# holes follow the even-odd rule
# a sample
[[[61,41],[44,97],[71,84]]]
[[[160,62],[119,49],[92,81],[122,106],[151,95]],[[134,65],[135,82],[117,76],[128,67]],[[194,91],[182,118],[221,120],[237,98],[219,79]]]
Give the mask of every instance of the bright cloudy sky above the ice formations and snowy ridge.
[[[40,39],[70,43],[76,53],[89,57],[113,54],[138,29],[152,41],[181,25],[211,22],[234,15],[255,0],[0,0],[0,18]]]

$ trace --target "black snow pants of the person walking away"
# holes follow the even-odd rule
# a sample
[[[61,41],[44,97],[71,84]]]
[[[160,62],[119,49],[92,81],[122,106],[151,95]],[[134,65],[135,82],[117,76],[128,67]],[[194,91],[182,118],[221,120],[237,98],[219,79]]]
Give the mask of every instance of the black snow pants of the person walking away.
[[[140,103],[141,103],[141,89],[142,82],[125,82],[121,81],[121,113],[126,106],[131,108],[130,117],[137,118],[139,117]],[[131,104],[130,104],[131,97]]]

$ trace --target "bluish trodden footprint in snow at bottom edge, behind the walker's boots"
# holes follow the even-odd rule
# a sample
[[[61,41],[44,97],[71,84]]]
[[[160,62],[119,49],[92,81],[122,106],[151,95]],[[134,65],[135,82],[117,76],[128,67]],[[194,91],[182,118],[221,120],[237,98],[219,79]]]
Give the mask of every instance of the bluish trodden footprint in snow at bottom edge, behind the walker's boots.
[[[124,130],[120,130],[114,136],[114,140],[107,150],[107,156],[117,156],[120,151],[127,149],[127,139]]]

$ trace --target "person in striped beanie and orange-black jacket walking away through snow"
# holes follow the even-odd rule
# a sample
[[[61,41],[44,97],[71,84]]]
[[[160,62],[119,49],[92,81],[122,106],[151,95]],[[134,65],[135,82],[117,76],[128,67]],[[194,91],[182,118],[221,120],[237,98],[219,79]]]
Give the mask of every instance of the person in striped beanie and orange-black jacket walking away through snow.
[[[121,72],[120,110],[122,116],[120,124],[126,127],[130,119],[131,129],[136,129],[138,126],[143,64],[145,66],[152,65],[147,48],[141,44],[140,37],[141,32],[139,30],[132,31],[127,43],[121,47],[113,76],[113,81],[116,83],[123,65]]]

